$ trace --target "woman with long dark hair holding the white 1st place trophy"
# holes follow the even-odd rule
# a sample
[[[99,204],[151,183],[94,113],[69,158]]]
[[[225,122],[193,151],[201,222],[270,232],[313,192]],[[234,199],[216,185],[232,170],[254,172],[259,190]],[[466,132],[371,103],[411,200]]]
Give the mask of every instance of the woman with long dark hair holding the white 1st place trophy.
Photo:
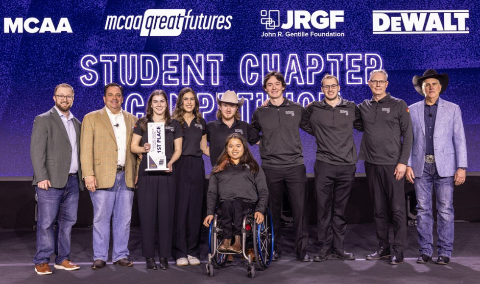
[[[155,231],[158,225],[158,255],[160,268],[168,268],[171,256],[173,218],[175,205],[174,163],[182,154],[183,131],[178,121],[170,117],[167,94],[155,90],[150,94],[146,105],[146,116],[140,118],[133,131],[130,149],[133,153],[150,151],[148,143],[148,122],[165,122],[166,171],[145,171],[147,156],[144,155],[138,172],[138,207],[142,231],[142,255],[148,269],[155,270]]]

